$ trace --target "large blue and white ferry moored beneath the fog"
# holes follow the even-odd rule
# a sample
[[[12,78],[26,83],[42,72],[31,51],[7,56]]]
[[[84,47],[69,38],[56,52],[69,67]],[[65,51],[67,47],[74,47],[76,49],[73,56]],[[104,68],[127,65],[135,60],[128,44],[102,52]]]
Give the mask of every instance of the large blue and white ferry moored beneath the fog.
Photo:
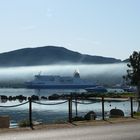
[[[97,86],[91,81],[81,79],[78,71],[74,72],[73,77],[38,74],[33,81],[25,84],[32,89],[86,89]]]

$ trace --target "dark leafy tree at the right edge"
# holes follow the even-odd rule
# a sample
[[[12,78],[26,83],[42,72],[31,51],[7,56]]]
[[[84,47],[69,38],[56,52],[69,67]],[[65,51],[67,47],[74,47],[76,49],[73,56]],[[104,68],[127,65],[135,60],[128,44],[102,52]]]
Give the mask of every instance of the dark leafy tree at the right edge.
[[[129,57],[127,64],[127,75],[124,78],[130,81],[131,85],[137,87],[137,98],[140,99],[140,52],[134,51]],[[138,111],[140,112],[140,101],[138,102]]]

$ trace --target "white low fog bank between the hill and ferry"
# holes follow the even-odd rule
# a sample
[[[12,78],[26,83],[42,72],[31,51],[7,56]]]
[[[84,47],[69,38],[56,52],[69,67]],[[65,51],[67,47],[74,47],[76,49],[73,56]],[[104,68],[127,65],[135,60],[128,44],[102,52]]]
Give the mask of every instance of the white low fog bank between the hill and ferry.
[[[126,74],[126,63],[94,64],[94,65],[47,65],[32,67],[0,68],[0,83],[20,83],[32,80],[36,74],[73,76],[79,70],[83,79],[89,79],[103,85],[113,85],[122,82]]]

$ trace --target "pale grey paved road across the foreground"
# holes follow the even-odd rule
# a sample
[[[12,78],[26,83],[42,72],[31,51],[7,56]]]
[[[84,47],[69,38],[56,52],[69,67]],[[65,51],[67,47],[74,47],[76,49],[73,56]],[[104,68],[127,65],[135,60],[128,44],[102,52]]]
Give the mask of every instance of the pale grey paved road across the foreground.
[[[140,140],[140,123],[11,131],[0,133],[0,140]]]

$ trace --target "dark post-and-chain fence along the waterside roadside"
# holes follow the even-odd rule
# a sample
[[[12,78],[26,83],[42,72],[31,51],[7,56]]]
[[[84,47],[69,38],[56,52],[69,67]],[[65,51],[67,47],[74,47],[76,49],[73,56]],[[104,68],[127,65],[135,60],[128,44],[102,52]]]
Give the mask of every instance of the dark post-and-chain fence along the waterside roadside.
[[[28,101],[26,101],[24,103],[12,105],[12,106],[0,106],[0,107],[1,108],[12,108],[12,107],[19,107],[19,106],[22,106],[25,104],[29,104],[29,116],[28,117],[29,117],[30,127],[33,129],[32,103],[38,104],[38,105],[44,105],[44,106],[60,105],[60,104],[67,103],[68,104],[68,122],[72,123],[72,121],[73,121],[73,103],[75,104],[76,116],[78,116],[78,108],[77,108],[78,104],[82,104],[82,105],[94,104],[94,101],[97,99],[101,101],[102,120],[105,120],[105,104],[104,103],[105,103],[105,100],[107,100],[107,98],[105,98],[105,97],[90,98],[90,99],[78,99],[78,98],[68,97],[66,100],[64,100],[62,102],[57,102],[57,103],[41,103],[41,102],[39,102],[37,100],[33,100],[31,97],[29,97]],[[86,102],[83,102],[83,101],[86,101]],[[133,98],[130,97],[129,101],[130,101],[130,114],[131,114],[131,117],[133,117]]]

